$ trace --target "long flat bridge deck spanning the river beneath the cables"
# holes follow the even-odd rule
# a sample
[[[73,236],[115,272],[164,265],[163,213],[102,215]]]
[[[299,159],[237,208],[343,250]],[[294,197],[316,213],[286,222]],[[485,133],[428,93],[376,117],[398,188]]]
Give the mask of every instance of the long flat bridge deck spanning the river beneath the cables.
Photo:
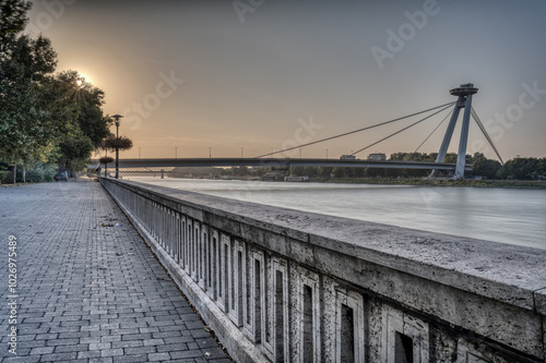
[[[93,160],[90,168],[96,168],[98,160]],[[114,170],[115,164],[108,164],[108,169]],[[163,159],[120,159],[120,169],[133,169],[157,172],[158,169],[176,167],[351,167],[351,168],[387,168],[387,169],[425,169],[425,170],[455,170],[455,164],[434,161],[375,161],[360,159],[317,159],[317,158],[163,158]],[[465,171],[471,171],[471,166],[465,166]]]

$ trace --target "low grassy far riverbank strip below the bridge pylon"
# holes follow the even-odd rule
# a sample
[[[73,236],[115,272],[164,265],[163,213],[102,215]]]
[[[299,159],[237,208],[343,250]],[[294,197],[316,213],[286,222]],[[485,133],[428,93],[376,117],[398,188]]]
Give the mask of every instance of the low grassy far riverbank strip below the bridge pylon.
[[[351,184],[399,184],[399,185],[426,185],[426,186],[546,189],[546,181],[536,181],[536,180],[311,178],[311,181],[318,183],[351,183]]]

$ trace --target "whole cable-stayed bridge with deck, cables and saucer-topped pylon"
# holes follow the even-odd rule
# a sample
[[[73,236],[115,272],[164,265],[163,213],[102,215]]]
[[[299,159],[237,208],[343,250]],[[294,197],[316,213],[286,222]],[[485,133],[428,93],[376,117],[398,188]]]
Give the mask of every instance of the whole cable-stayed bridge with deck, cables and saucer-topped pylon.
[[[126,171],[165,171],[165,169],[176,168],[176,167],[273,167],[278,169],[285,169],[289,167],[360,167],[360,168],[388,168],[388,169],[428,169],[428,170],[453,170],[455,179],[464,178],[464,172],[472,170],[472,168],[465,165],[466,159],[466,144],[468,140],[468,129],[470,129],[470,119],[471,116],[477,123],[479,130],[485,135],[491,148],[497,154],[499,160],[502,162],[502,159],[495,147],[492,140],[487,134],[487,131],[479,120],[476,111],[472,107],[472,96],[477,93],[477,88],[474,87],[472,83],[463,84],[458,88],[453,88],[450,90],[450,94],[458,97],[456,101],[448,102],[444,105],[440,105],[434,108],[429,108],[424,111],[411,113],[401,118],[396,118],[393,120],[380,122],[370,126],[361,128],[358,130],[353,130],[349,132],[344,132],[337,135],[329,136],[325,138],[317,140],[313,142],[309,142],[302,145],[275,150],[269,154],[259,155],[253,158],[165,158],[165,159],[121,159],[119,160],[118,168],[124,169]],[[420,146],[439,129],[439,126],[451,116],[450,122],[448,124],[448,129],[443,136],[442,144],[440,146],[440,150],[438,153],[438,157],[435,162],[431,161],[410,161],[410,160],[387,160],[387,161],[376,161],[376,160],[361,160],[356,158],[356,154],[359,154],[390,137],[393,137],[422,122],[428,120],[440,112],[448,110],[450,108],[454,108],[441,120],[441,122],[432,130],[432,132],[425,138],[423,143],[417,147],[414,152],[416,153]],[[459,152],[458,159],[455,164],[444,162],[446,156],[448,153],[448,147],[451,142],[453,131],[455,129],[455,124],[459,119],[460,110],[464,109],[462,128],[461,128],[461,137],[459,142]],[[434,112],[432,112],[434,111]],[[356,134],[363,131],[367,131],[370,129],[375,129],[378,126],[382,126],[385,124],[399,122],[418,114],[426,114],[427,112],[432,112],[423,117],[422,119],[413,122],[410,125],[406,125],[390,135],[382,137],[381,140],[373,142],[363,148],[357,149],[352,153],[348,157],[342,159],[322,159],[322,158],[283,158],[283,157],[273,157],[275,155],[283,155],[285,152],[289,152],[296,148],[302,148],[310,145],[316,145],[319,143],[324,143],[331,140],[344,137],[347,135]],[[90,168],[97,168],[98,160],[93,160],[93,165],[90,165]],[[114,164],[108,165],[108,168],[115,168]]]

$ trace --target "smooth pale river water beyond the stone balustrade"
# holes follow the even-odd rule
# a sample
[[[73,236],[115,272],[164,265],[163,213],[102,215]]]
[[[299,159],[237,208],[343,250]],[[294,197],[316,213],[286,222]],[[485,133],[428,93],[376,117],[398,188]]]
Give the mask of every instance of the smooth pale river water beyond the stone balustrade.
[[[124,178],[234,199],[546,250],[546,191]]]

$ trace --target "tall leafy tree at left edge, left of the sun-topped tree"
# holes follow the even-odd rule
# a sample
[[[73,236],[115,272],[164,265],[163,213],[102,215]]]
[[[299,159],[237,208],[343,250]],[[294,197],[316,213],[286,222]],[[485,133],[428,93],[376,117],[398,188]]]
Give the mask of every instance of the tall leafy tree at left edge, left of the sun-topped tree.
[[[20,36],[2,50],[0,158],[15,162],[14,176],[19,162],[47,160],[67,131],[67,118],[55,117],[49,101],[48,82],[56,63],[56,53],[43,37]]]

